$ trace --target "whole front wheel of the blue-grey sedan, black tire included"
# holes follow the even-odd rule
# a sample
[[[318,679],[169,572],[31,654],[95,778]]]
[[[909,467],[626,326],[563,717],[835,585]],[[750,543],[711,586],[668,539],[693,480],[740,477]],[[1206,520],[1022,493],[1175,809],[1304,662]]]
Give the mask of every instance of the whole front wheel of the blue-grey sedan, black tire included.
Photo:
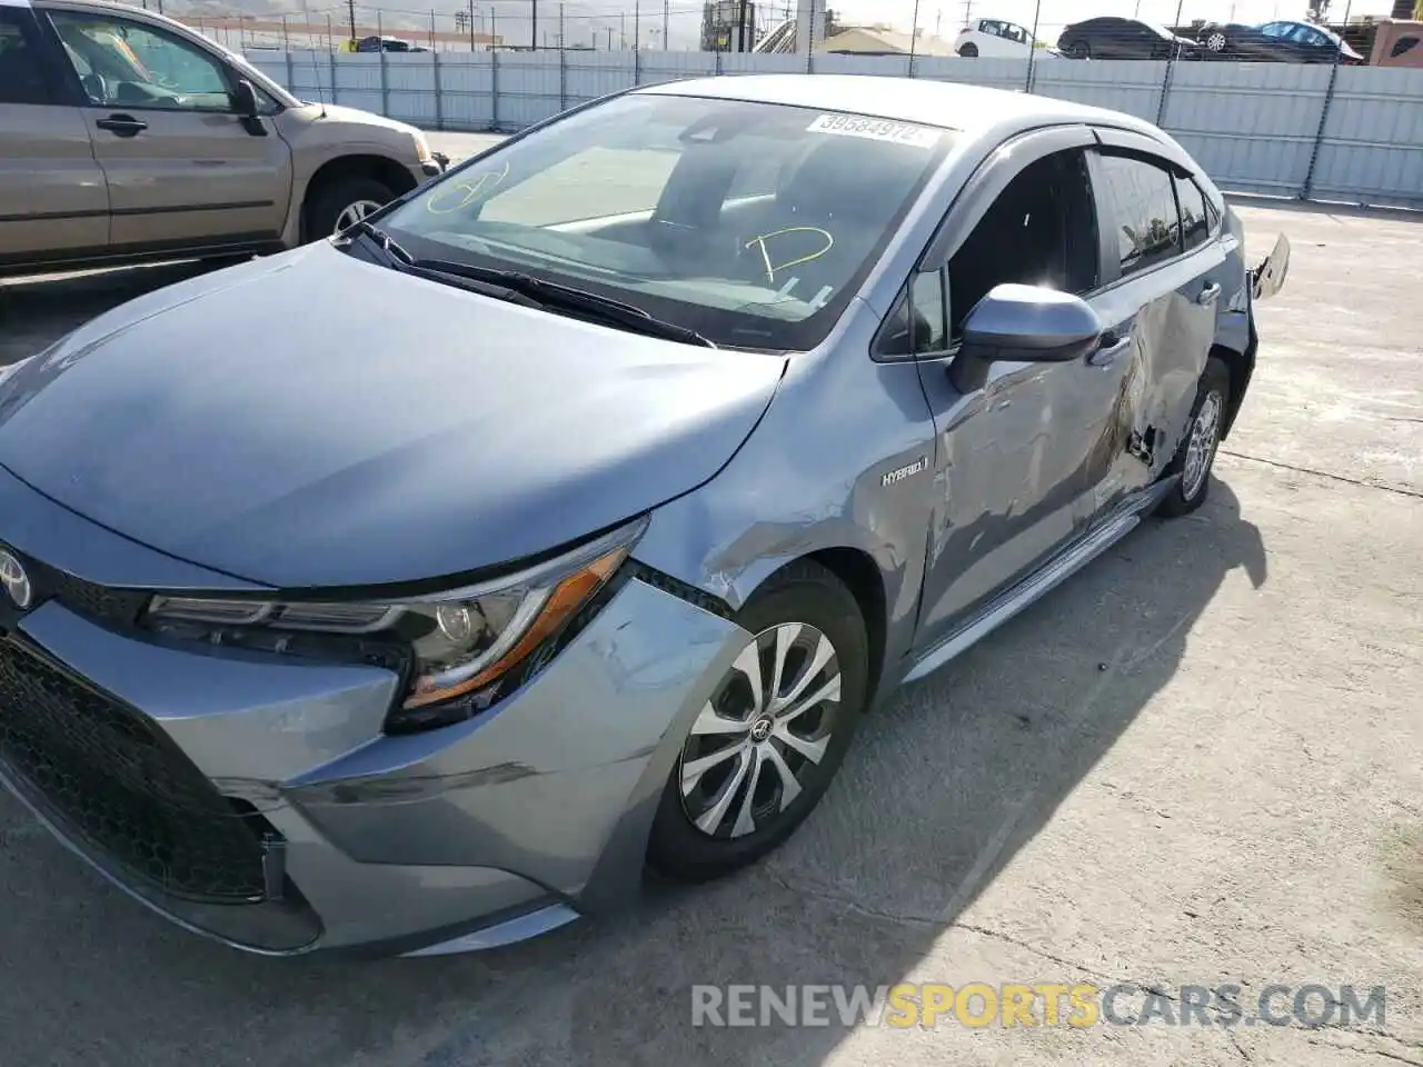
[[[784,842],[824,795],[845,758],[868,699],[869,640],[859,606],[818,563],[801,561],[776,575],[741,609],[737,623],[756,637],[717,684],[684,738],[647,842],[647,865],[679,882],[707,882],[731,874]],[[781,646],[778,637],[790,637],[790,626],[797,623],[798,635]],[[832,657],[803,676],[817,666],[815,650],[822,640]],[[770,689],[778,647],[787,649],[784,664],[790,674],[790,681],[783,679],[780,686],[783,697],[797,689],[801,700],[813,697],[838,671],[840,700],[828,697],[801,704],[801,711],[788,717],[758,714],[763,704],[751,703],[753,679],[740,664],[754,663],[764,689]],[[703,721],[720,733],[699,731]],[[744,721],[746,730],[726,728],[736,721]],[[757,731],[771,721],[776,726],[770,736],[757,737]],[[787,737],[798,747],[788,744]],[[733,748],[740,751],[716,765],[703,765],[696,778],[687,777],[697,760]],[[774,751],[774,757],[768,751]],[[803,751],[818,751],[820,758],[807,758]],[[790,788],[797,790],[788,801],[787,771]],[[686,797],[684,781],[690,782]],[[710,832],[693,818],[703,819]]]

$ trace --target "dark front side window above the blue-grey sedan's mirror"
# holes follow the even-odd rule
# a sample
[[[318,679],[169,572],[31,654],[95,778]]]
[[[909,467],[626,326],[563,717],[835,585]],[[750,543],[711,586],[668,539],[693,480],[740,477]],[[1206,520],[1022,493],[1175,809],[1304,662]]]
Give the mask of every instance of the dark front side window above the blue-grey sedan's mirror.
[[[1097,259],[1097,211],[1083,154],[1056,152],[1029,164],[949,260],[953,337],[995,286],[1091,292]]]

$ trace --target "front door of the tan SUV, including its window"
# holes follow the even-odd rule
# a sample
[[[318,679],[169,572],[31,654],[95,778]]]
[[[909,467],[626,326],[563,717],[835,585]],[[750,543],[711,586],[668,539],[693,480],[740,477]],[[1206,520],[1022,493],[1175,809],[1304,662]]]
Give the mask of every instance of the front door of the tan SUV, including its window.
[[[292,175],[286,142],[233,112],[232,71],[155,23],[50,10],[108,179],[115,250],[272,240]]]

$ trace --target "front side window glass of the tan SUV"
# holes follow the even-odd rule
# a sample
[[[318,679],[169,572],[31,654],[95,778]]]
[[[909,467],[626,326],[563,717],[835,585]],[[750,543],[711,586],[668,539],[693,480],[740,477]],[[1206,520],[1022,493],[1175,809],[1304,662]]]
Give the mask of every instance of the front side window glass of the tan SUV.
[[[50,18],[94,107],[232,111],[222,64],[188,41],[125,18]]]

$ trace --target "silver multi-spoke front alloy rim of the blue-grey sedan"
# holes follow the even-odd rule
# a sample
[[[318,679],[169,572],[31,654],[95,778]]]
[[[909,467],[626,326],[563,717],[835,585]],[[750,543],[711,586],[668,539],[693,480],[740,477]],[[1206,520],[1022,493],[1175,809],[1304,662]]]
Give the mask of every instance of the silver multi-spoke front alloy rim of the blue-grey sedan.
[[[677,767],[686,817],[723,839],[768,828],[820,773],[840,707],[840,660],[824,633],[761,630],[692,724]]]

